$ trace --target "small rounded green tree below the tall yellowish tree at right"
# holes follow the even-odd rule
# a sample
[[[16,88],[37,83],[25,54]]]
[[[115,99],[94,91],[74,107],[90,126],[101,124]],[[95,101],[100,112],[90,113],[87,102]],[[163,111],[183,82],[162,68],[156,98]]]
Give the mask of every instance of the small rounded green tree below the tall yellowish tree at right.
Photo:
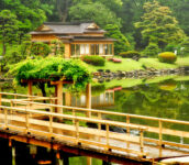
[[[160,52],[159,47],[155,43],[149,43],[148,46],[143,51],[143,55],[149,56],[149,57],[156,57],[158,53]]]

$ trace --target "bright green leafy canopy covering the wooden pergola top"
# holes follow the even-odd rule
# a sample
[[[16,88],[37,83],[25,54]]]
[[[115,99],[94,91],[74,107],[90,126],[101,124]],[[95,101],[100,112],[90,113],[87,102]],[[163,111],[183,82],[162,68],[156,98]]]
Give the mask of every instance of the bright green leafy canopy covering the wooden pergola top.
[[[91,81],[90,73],[80,61],[66,61],[62,57],[26,59],[12,65],[9,74],[22,86],[22,79],[66,79],[74,81],[71,89],[81,90]]]

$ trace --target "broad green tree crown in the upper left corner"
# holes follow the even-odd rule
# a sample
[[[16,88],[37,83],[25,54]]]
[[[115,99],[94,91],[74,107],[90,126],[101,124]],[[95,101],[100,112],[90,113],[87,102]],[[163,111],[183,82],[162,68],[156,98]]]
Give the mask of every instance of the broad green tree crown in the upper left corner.
[[[1,0],[0,10],[10,10],[16,15],[19,19],[18,28],[22,37],[45,21],[45,12],[49,9],[49,6],[45,6],[45,3],[42,3],[41,0]]]

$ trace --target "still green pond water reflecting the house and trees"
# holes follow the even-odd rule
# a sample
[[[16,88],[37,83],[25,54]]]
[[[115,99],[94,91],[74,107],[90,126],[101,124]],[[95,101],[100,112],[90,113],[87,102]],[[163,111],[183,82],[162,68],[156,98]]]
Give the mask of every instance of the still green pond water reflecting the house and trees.
[[[10,82],[0,84],[1,91],[26,94],[22,87],[12,87]],[[35,89],[35,95],[41,95]],[[54,89],[47,89],[51,95]],[[167,118],[175,120],[189,121],[189,76],[165,76],[151,79],[121,79],[94,84],[91,88],[92,108],[116,111],[123,113],[133,113]],[[64,94],[64,102],[67,106],[86,106],[85,92],[73,95]],[[114,117],[103,117],[114,119]],[[116,119],[123,120],[123,119]],[[145,121],[138,121],[138,123]],[[151,123],[152,125],[154,123]],[[174,125],[168,125],[174,127]],[[189,128],[184,128],[189,131]],[[151,135],[149,135],[151,136]],[[180,140],[175,140],[176,142]],[[189,141],[186,140],[189,144]],[[0,139],[0,163],[2,165],[105,165],[111,164],[101,160],[76,156],[64,153],[60,157],[55,151],[51,151],[34,145],[26,145],[14,142],[10,147],[8,140]],[[13,156],[12,156],[13,155]]]

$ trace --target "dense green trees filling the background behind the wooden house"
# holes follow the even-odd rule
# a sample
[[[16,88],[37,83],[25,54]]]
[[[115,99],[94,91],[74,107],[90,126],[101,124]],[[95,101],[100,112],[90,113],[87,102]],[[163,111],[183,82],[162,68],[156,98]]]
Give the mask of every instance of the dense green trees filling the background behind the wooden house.
[[[1,0],[1,64],[49,54],[47,46],[45,53],[38,52],[40,43],[23,54],[23,44],[30,38],[27,33],[44,21],[92,20],[107,30],[107,36],[116,40],[115,55],[136,50],[151,57],[175,51],[188,56],[188,11],[189,0]],[[52,54],[59,54],[56,46]]]

